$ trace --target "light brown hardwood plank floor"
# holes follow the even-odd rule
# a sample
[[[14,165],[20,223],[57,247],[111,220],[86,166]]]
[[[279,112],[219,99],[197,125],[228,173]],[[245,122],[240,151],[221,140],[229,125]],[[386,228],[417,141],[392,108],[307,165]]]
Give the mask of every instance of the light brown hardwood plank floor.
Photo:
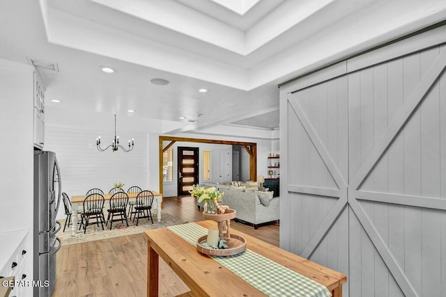
[[[163,210],[185,222],[203,220],[194,198],[164,198]],[[254,230],[231,222],[231,228],[279,246],[279,224]],[[63,246],[56,254],[56,287],[52,297],[146,296],[147,241],[144,234]],[[160,259],[160,296],[192,296]]]

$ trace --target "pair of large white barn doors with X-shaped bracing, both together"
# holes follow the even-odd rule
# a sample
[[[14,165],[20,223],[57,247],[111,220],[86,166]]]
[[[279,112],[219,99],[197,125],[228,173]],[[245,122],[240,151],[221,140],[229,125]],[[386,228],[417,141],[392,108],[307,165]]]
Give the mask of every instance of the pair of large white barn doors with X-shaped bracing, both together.
[[[344,296],[446,296],[446,47],[361,58],[281,90],[281,247]]]

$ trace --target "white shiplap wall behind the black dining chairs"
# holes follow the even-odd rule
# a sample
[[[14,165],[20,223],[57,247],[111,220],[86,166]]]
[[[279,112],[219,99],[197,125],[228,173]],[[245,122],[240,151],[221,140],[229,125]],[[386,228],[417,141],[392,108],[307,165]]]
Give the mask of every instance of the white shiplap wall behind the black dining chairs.
[[[111,127],[113,128],[113,127]],[[144,133],[119,133],[125,143],[134,138],[134,150],[125,153],[109,148],[100,152],[96,148],[96,137],[103,143],[112,143],[113,131],[93,131],[58,125],[45,126],[45,149],[56,152],[61,168],[62,191],[69,197],[84,195],[90,188],[101,188],[108,193],[114,182],[148,189],[148,136]],[[108,144],[107,144],[108,145]],[[104,145],[105,147],[106,145]],[[65,218],[63,205],[58,218]]]

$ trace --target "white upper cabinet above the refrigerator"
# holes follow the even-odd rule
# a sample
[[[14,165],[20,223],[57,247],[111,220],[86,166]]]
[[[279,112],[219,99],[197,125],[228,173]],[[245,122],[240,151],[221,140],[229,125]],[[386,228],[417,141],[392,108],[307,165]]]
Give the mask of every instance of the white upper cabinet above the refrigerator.
[[[45,87],[37,71],[34,72],[34,146],[43,148],[45,139]]]

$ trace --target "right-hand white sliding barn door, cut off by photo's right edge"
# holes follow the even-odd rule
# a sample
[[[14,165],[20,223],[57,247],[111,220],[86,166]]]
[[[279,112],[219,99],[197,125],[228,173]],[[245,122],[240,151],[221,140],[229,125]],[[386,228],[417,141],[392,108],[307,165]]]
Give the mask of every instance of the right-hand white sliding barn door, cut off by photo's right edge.
[[[348,75],[351,296],[445,296],[445,65],[433,47]]]

